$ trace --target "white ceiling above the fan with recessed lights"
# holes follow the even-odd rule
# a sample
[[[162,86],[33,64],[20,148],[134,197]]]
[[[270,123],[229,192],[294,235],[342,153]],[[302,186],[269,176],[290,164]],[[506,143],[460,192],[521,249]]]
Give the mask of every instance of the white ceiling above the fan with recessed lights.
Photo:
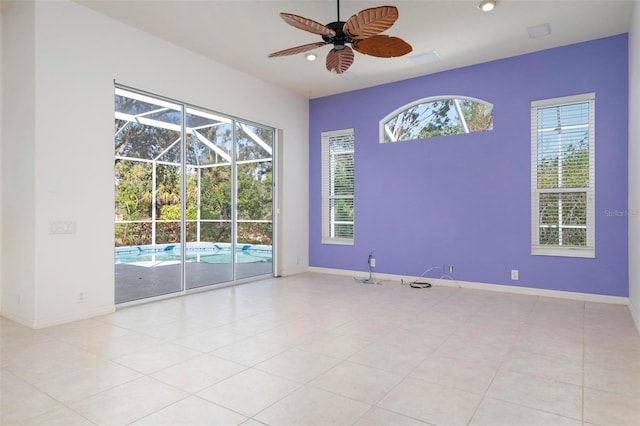
[[[347,92],[443,70],[593,40],[629,30],[632,0],[499,0],[492,12],[480,0],[342,0],[340,18],[393,5],[396,23],[384,34],[400,37],[413,52],[400,58],[356,53],[349,75],[325,69],[330,46],[304,54],[268,58],[271,52],[321,41],[320,36],[286,24],[288,12],[323,24],[337,18],[335,0],[76,0],[176,45],[209,57],[307,98]],[[529,38],[527,28],[549,24],[551,34]],[[440,59],[415,65],[407,58],[436,51]],[[597,58],[594,58],[597,60]]]

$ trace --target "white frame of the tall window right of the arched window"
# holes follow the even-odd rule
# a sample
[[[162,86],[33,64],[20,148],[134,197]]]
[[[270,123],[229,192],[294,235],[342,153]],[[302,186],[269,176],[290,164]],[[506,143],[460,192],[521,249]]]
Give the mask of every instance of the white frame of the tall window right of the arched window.
[[[531,254],[543,256],[566,256],[595,258],[595,93],[565,96],[531,102]],[[573,103],[589,104],[589,186],[587,188],[538,189],[538,109]],[[586,231],[585,246],[563,246],[540,244],[540,194],[586,193]]]

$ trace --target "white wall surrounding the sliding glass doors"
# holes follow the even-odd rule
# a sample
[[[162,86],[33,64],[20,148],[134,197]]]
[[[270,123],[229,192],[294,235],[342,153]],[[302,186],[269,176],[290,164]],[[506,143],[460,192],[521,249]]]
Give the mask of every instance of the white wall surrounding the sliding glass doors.
[[[7,9],[24,10],[18,2]],[[14,72],[5,87],[21,83],[34,95],[33,114],[18,116],[12,101],[5,109],[7,130],[34,135],[31,155],[20,158],[33,172],[20,192],[31,197],[19,229],[8,235],[4,277],[31,274],[35,310],[21,314],[12,280],[5,284],[3,315],[42,327],[113,310],[113,81],[283,129],[282,274],[308,265],[308,103],[272,86],[184,49],[120,24],[68,1],[35,3],[34,62]],[[6,13],[6,12],[5,12]],[[29,19],[22,19],[29,24]],[[5,25],[7,25],[5,19]],[[18,25],[14,25],[18,26]],[[27,25],[28,27],[28,25]],[[14,40],[20,28],[6,28]],[[28,38],[27,38],[28,40]],[[14,41],[14,45],[23,42]],[[10,53],[10,52],[5,52]],[[8,55],[7,55],[8,57]],[[27,64],[29,65],[29,64]],[[34,90],[35,88],[35,90]],[[7,91],[8,92],[8,91]],[[7,93],[9,95],[9,93]],[[29,112],[29,111],[27,111]],[[14,121],[23,121],[17,126]],[[28,122],[28,123],[27,123]],[[9,132],[8,132],[9,133]],[[7,152],[17,143],[5,139]],[[12,156],[15,157],[15,156]],[[17,158],[16,158],[17,159]],[[6,160],[12,161],[9,158]],[[5,191],[10,185],[5,185]],[[17,192],[17,191],[14,191]],[[5,201],[10,194],[5,192]],[[3,203],[4,204],[4,203]],[[7,209],[7,210],[13,210]],[[5,211],[6,213],[6,211]],[[31,217],[29,217],[31,215]],[[15,217],[5,216],[5,228]],[[73,221],[76,233],[50,235],[51,221]],[[22,229],[20,229],[22,228]],[[25,243],[24,228],[33,242]],[[5,238],[3,237],[3,240]],[[29,265],[14,266],[15,246],[32,249]],[[9,257],[12,257],[10,260]],[[297,263],[298,258],[304,262]],[[86,302],[77,302],[80,291]],[[22,295],[23,304],[25,295]],[[25,318],[26,317],[26,318]],[[27,319],[27,321],[25,321]]]

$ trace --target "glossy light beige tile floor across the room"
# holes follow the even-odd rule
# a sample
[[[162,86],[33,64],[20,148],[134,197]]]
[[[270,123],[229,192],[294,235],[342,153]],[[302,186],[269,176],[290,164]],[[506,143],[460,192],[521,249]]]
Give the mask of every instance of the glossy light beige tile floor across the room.
[[[302,274],[31,330],[2,425],[640,425],[621,305]]]

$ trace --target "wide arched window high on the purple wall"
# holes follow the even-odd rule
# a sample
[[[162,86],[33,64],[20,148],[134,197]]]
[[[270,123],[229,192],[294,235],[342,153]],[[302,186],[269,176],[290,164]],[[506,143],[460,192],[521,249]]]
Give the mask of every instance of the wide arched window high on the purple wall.
[[[493,128],[493,104],[464,96],[439,96],[404,105],[380,121],[380,143],[425,139]]]

